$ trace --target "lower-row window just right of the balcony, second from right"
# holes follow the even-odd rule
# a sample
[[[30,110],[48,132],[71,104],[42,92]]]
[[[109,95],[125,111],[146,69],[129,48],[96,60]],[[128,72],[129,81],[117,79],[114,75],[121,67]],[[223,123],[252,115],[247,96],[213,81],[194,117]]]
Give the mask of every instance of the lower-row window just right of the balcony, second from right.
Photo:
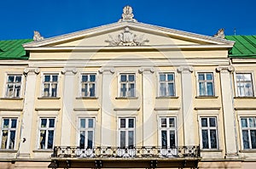
[[[216,117],[201,117],[202,149],[218,149]]]

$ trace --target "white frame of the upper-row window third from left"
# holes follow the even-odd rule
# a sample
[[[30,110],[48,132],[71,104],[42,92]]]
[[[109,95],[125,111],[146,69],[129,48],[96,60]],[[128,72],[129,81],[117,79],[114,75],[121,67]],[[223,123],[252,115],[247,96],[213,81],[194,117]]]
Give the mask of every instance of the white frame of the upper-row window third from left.
[[[87,76],[90,76],[90,75],[95,75],[95,82],[82,82],[82,76],[84,76],[84,75],[87,75]],[[79,97],[81,97],[81,98],[96,98],[96,92],[97,92],[97,81],[98,81],[98,79],[97,79],[97,73],[96,72],[82,72],[81,74],[80,74],[80,76],[79,76]],[[82,93],[82,83],[94,83],[95,84],[95,91],[94,91],[94,93],[95,93],[95,95],[94,96],[83,96],[83,93]],[[88,87],[88,91],[87,92],[89,92],[90,93],[90,88]]]

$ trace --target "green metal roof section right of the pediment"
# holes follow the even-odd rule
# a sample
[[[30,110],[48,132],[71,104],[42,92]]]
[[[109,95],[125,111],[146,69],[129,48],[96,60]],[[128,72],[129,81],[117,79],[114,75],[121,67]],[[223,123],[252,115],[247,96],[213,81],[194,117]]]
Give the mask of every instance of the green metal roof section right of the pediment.
[[[230,50],[230,58],[256,58],[256,36],[225,36],[227,40],[235,41]]]

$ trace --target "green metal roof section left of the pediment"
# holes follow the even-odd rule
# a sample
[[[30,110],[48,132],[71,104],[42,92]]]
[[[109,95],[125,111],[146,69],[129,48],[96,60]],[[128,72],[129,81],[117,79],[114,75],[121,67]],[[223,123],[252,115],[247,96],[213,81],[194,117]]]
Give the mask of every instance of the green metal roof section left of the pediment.
[[[29,56],[22,44],[32,41],[32,39],[0,41],[0,59],[28,59]]]

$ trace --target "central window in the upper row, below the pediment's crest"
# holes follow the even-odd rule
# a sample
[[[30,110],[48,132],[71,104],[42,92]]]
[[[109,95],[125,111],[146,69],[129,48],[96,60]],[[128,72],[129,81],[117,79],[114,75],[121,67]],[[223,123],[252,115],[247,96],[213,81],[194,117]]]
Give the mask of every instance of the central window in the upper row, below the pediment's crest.
[[[135,97],[135,74],[120,75],[120,97]]]

